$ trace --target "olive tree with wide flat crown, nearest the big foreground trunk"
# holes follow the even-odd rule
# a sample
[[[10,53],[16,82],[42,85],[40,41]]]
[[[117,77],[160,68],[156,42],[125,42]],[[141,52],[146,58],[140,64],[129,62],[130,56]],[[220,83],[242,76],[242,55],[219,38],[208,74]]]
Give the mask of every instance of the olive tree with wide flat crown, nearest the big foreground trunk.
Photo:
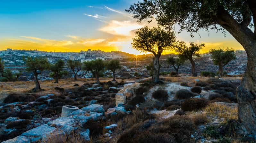
[[[223,48],[210,49],[209,53],[213,59],[213,64],[219,66],[219,75],[223,76],[223,67],[235,59],[235,50],[230,48],[226,48],[226,50]]]

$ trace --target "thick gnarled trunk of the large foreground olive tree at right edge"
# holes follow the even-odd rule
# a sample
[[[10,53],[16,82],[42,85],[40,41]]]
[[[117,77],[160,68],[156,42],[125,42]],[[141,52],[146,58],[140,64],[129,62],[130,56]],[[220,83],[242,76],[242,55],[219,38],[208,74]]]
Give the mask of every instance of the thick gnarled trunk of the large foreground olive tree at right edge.
[[[248,62],[242,83],[237,88],[238,120],[241,123],[238,135],[253,135],[256,139],[256,41],[244,47]]]

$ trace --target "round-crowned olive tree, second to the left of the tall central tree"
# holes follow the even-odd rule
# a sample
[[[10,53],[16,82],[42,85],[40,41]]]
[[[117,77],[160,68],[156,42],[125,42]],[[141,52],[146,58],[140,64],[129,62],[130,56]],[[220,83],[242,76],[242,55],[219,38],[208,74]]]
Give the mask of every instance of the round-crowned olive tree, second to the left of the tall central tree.
[[[91,72],[96,79],[96,83],[100,83],[99,77],[102,74],[104,68],[105,68],[105,64],[102,61],[102,59],[95,59],[95,60],[84,62],[84,66],[82,67],[82,70]]]

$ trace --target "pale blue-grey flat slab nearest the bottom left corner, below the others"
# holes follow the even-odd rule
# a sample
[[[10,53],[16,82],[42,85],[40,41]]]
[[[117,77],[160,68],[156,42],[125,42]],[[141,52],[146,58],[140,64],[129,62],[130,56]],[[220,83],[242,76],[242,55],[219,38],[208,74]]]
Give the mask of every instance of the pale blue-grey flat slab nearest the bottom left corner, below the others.
[[[23,132],[21,135],[28,138],[45,137],[55,132],[56,130],[57,129],[55,127],[51,127],[51,126],[48,126],[47,124],[43,124],[27,132]]]

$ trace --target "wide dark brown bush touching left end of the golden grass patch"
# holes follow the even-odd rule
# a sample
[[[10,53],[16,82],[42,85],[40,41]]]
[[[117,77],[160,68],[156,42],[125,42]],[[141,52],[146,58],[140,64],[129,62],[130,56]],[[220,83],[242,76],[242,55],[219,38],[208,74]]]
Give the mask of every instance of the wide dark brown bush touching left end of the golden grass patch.
[[[184,101],[181,105],[181,109],[184,111],[193,111],[201,109],[209,105],[209,102],[204,98],[192,98]]]

